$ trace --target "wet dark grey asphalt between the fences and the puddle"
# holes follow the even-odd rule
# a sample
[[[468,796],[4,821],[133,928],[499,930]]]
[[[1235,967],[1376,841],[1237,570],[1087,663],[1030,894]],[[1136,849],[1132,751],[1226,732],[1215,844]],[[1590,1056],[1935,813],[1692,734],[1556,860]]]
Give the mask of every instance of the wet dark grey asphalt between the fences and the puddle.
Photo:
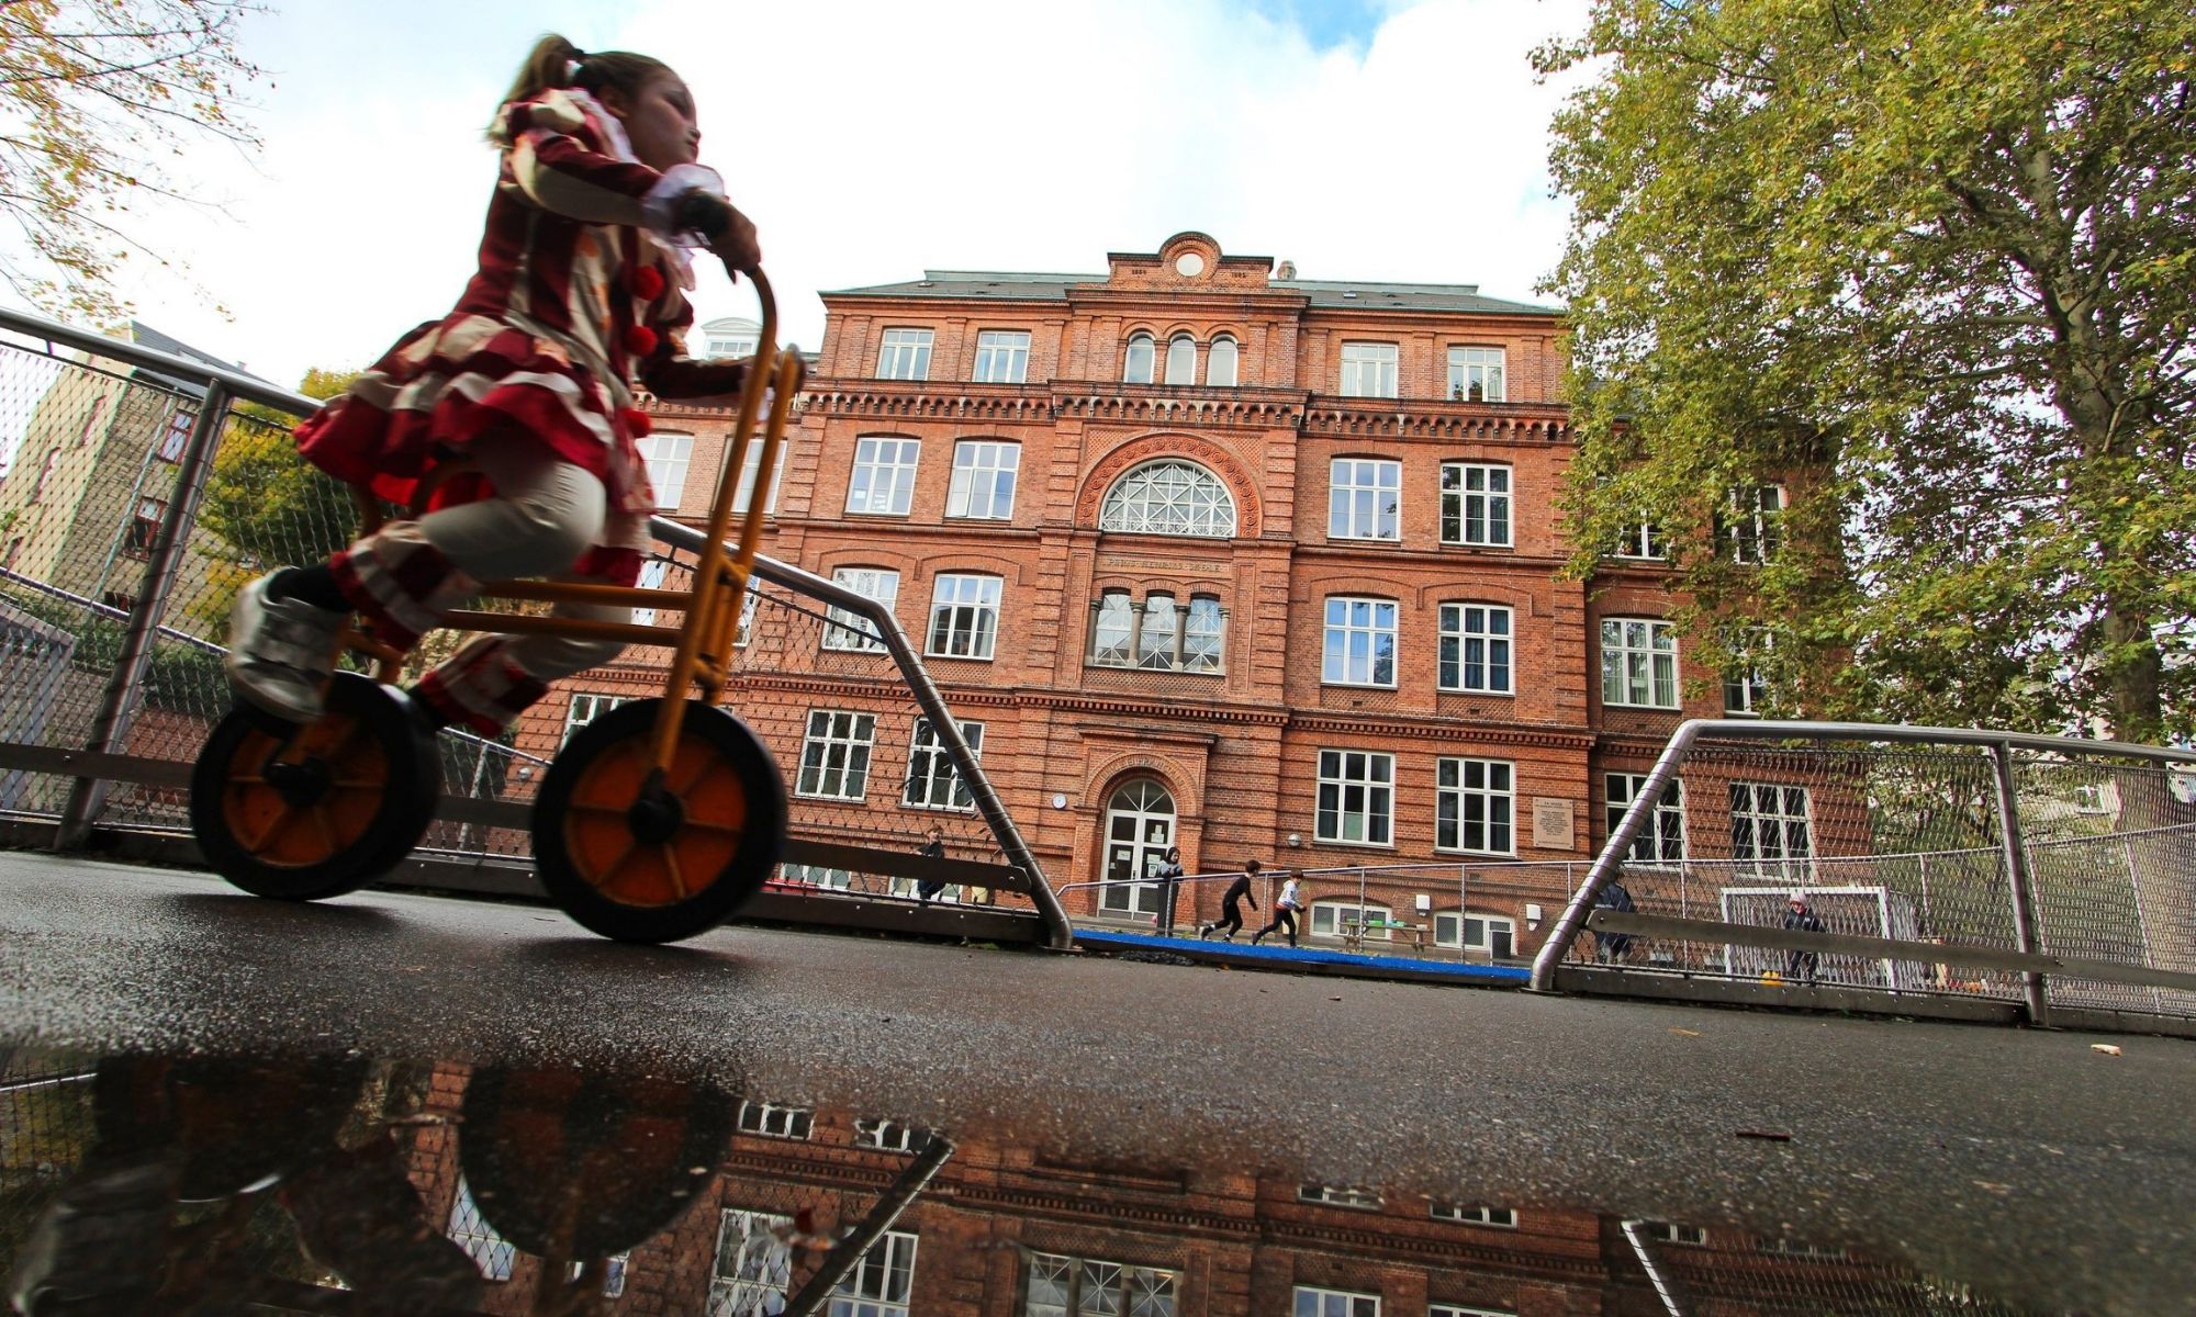
[[[2196,1310],[2187,1040],[742,926],[632,948],[538,907],[292,907],[40,854],[0,854],[0,1029],[712,1078],[1109,1159],[1730,1223],[2036,1308]]]

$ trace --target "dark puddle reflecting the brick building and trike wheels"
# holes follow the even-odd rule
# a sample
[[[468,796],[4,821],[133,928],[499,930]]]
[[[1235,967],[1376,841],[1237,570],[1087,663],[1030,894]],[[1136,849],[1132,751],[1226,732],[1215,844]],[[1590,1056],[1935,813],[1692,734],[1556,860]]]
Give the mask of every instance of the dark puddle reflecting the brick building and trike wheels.
[[[0,1076],[18,1313],[2014,1313],[1794,1240],[1127,1166],[657,1078],[365,1058]]]

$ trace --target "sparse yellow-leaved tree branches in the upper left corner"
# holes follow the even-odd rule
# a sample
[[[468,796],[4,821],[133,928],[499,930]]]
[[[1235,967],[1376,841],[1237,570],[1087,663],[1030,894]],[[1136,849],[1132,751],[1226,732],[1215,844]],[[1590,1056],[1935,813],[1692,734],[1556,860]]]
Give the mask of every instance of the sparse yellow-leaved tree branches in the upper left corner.
[[[191,140],[257,147],[237,88],[244,0],[0,2],[0,215],[20,246],[0,277],[31,303],[92,320],[123,305],[130,255],[173,261],[123,228],[149,198],[193,200],[169,176]]]

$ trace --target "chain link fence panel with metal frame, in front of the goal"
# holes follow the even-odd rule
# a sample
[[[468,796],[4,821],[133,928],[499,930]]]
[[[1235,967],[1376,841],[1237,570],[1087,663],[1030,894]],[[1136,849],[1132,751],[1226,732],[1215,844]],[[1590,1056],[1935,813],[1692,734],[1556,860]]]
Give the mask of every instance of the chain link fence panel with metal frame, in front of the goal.
[[[2036,955],[2060,961],[2049,1005],[2196,1016],[2196,979],[2176,983],[2196,970],[2196,757],[1932,729],[1693,727],[1612,830],[1544,961],[2025,1001],[2047,966],[2018,957]],[[1581,935],[1594,911],[1612,926]],[[1693,920],[1702,935],[1612,915]],[[1963,959],[1976,948],[2007,955]]]

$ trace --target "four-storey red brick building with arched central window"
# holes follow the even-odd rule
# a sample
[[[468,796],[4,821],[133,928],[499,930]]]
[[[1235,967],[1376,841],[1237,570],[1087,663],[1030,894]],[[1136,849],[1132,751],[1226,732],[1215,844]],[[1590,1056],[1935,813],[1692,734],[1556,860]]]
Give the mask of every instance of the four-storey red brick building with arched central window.
[[[1201,233],[1105,274],[940,270],[824,303],[764,549],[894,601],[1056,887],[1149,874],[1170,843],[1192,874],[1256,856],[1320,871],[1329,933],[1355,869],[1388,869],[1375,913],[1531,955],[1629,775],[1722,713],[1719,683],[1684,694],[1654,544],[1559,579],[1550,307],[1296,279]],[[659,485],[696,518],[725,419],[657,426],[659,468],[685,463]],[[918,784],[889,665],[848,650],[758,632],[742,711],[797,828],[892,845],[953,810]],[[582,678],[531,738],[648,667]],[[1067,904],[1149,920],[1155,893]]]

